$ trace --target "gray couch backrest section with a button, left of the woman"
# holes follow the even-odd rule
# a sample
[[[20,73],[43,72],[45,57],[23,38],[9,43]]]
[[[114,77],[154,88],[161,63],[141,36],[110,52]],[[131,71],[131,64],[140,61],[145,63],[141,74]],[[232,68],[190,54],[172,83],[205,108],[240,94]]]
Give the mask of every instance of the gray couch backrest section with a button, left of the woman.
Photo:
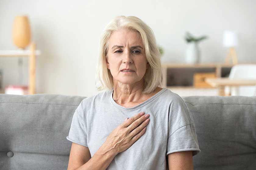
[[[0,169],[67,169],[66,136],[84,98],[0,94]]]

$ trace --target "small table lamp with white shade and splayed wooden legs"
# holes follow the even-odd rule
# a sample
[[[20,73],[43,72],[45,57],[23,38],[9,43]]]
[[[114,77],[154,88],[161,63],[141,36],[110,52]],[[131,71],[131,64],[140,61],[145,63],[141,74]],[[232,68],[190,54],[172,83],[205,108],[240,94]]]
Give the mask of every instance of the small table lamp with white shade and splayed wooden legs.
[[[229,58],[232,58],[233,64],[237,64],[237,57],[235,47],[238,44],[238,38],[236,31],[226,30],[223,34],[223,46],[229,47],[228,55],[225,59],[225,64],[229,64]]]

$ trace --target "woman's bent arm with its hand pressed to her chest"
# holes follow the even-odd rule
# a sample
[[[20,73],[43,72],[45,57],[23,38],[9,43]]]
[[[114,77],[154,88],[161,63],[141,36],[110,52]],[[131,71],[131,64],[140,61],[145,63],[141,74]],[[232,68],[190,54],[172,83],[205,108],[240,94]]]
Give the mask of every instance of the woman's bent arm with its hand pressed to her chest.
[[[92,158],[88,147],[73,142],[68,170],[105,170],[118,153],[125,151],[145,133],[149,118],[143,115],[144,112],[140,112],[116,127]]]

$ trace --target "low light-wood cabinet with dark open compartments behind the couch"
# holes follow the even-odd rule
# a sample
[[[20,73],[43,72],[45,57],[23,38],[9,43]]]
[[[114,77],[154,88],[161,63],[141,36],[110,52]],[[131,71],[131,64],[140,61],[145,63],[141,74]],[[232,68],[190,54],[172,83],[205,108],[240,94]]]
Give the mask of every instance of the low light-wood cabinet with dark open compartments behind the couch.
[[[171,88],[213,88],[203,82],[205,77],[228,77],[234,64],[162,64],[163,87]],[[200,77],[201,78],[198,78]],[[200,84],[200,85],[198,85]]]

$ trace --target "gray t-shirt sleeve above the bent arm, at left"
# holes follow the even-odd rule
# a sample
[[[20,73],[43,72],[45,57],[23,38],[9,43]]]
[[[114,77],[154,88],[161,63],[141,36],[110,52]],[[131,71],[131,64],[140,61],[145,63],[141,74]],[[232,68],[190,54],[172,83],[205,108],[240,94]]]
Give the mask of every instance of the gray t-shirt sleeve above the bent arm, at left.
[[[71,142],[88,147],[87,133],[84,126],[83,114],[79,110],[80,106],[81,104],[75,110],[69,130],[69,135],[66,138]]]

